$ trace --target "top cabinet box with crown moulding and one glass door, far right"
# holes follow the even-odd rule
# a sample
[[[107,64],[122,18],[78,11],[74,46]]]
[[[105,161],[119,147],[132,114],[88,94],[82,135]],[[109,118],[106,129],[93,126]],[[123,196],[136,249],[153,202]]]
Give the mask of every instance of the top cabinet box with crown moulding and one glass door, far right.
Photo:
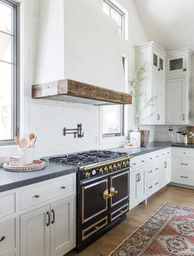
[[[167,52],[166,54],[166,75],[183,74],[190,75],[192,72],[193,50],[189,48]]]

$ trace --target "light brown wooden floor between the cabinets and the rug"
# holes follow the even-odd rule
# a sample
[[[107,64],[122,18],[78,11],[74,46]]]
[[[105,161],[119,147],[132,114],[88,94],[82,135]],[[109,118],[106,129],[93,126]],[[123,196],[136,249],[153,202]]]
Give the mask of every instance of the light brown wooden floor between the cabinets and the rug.
[[[147,205],[139,204],[127,213],[127,219],[114,227],[103,237],[77,254],[75,250],[66,255],[107,256],[139,226],[149,219],[165,202],[172,202],[194,208],[194,189],[167,185],[150,196]]]

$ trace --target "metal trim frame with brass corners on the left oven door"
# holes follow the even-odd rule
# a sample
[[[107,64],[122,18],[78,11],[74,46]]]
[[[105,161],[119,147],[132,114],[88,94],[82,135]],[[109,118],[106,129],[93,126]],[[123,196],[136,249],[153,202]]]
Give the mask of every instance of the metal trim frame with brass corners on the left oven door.
[[[100,183],[103,183],[104,181],[106,182],[106,190],[108,190],[108,179],[107,179],[107,178],[106,178],[106,179],[103,179],[102,181],[98,181],[98,182],[95,182],[95,183],[90,184],[90,185],[88,185],[88,186],[82,187],[82,222],[81,222],[82,224],[84,224],[86,221],[88,221],[88,220],[90,220],[90,219],[92,219],[92,218],[98,216],[98,215],[101,214],[102,212],[108,210],[108,198],[107,198],[107,199],[105,199],[105,200],[106,200],[106,207],[105,207],[103,210],[101,210],[101,211],[97,212],[96,214],[94,214],[94,215],[88,217],[87,219],[84,219],[84,191],[85,191],[87,188],[92,187],[92,186],[95,186],[95,185],[100,184]],[[83,188],[84,188],[84,189],[83,189]]]

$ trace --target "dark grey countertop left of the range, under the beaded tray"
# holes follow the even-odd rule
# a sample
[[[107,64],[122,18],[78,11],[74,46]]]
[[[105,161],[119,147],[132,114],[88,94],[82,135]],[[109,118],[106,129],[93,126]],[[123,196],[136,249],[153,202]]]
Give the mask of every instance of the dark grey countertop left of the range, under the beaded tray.
[[[45,168],[32,172],[10,172],[0,167],[0,192],[76,173],[78,168],[45,161]]]

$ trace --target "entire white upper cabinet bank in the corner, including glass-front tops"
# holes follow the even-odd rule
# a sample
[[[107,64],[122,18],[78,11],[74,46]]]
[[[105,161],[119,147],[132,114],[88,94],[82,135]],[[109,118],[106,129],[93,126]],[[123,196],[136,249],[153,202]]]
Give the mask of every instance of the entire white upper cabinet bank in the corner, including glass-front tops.
[[[193,50],[189,47],[166,52],[155,42],[136,45],[134,49],[135,62],[140,66],[147,63],[141,89],[148,98],[158,94],[139,124],[190,125]],[[139,98],[138,110],[142,107],[144,98]]]

